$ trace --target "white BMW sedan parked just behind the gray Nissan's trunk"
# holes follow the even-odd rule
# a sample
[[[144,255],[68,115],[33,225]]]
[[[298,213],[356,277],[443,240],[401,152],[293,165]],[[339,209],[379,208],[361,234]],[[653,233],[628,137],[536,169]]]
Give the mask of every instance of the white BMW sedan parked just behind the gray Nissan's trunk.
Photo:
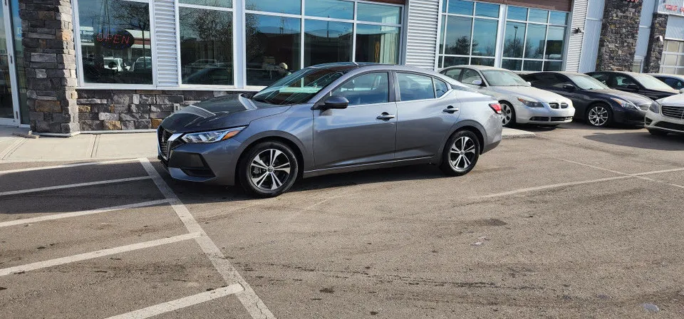
[[[452,66],[440,73],[491,95],[501,103],[506,127],[515,124],[556,126],[572,122],[572,101],[546,90],[533,88],[520,75],[490,66]]]

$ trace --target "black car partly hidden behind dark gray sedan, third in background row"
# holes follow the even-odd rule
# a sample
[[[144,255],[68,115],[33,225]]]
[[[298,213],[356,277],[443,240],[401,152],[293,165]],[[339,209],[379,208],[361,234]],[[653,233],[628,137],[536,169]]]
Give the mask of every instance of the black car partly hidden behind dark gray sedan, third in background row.
[[[670,88],[670,85],[648,74],[618,71],[589,72],[586,74],[608,85],[608,88],[638,93],[653,100],[679,94],[678,90]]]

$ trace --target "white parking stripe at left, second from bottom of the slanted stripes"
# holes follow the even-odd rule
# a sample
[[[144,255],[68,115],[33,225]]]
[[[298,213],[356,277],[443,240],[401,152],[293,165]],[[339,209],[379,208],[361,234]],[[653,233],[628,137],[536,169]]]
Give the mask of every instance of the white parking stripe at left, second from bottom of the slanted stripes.
[[[180,235],[180,236],[168,237],[165,239],[157,239],[154,241],[145,241],[145,242],[138,243],[138,244],[119,246],[119,247],[110,248],[110,249],[103,249],[100,251],[93,251],[90,253],[81,253],[78,255],[51,259],[48,261],[38,261],[36,263],[28,263],[28,264],[22,265],[22,266],[0,269],[0,276],[7,276],[11,273],[21,273],[24,271],[34,271],[36,269],[59,266],[59,265],[65,264],[65,263],[75,263],[76,261],[85,261],[88,259],[98,258],[98,257],[102,257],[102,256],[114,255],[116,253],[124,253],[126,251],[135,251],[138,249],[146,249],[146,248],[150,248],[150,247],[176,243],[178,241],[187,241],[188,239],[197,239],[200,236],[202,236],[202,234],[199,234],[199,233],[185,234],[185,235]]]

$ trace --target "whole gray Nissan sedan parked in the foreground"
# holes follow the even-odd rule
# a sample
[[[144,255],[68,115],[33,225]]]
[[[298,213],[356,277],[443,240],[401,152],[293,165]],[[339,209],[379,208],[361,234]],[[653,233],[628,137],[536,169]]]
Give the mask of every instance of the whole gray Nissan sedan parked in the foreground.
[[[501,134],[499,103],[443,75],[331,63],[187,106],[161,123],[157,142],[175,179],[274,197],[299,178],[361,169],[435,164],[460,176]]]

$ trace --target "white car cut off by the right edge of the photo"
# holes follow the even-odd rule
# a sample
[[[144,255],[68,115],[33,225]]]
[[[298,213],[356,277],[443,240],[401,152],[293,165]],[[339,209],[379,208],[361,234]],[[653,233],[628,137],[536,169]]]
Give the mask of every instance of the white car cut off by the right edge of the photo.
[[[684,96],[673,95],[655,101],[646,111],[644,125],[653,135],[684,134]]]

